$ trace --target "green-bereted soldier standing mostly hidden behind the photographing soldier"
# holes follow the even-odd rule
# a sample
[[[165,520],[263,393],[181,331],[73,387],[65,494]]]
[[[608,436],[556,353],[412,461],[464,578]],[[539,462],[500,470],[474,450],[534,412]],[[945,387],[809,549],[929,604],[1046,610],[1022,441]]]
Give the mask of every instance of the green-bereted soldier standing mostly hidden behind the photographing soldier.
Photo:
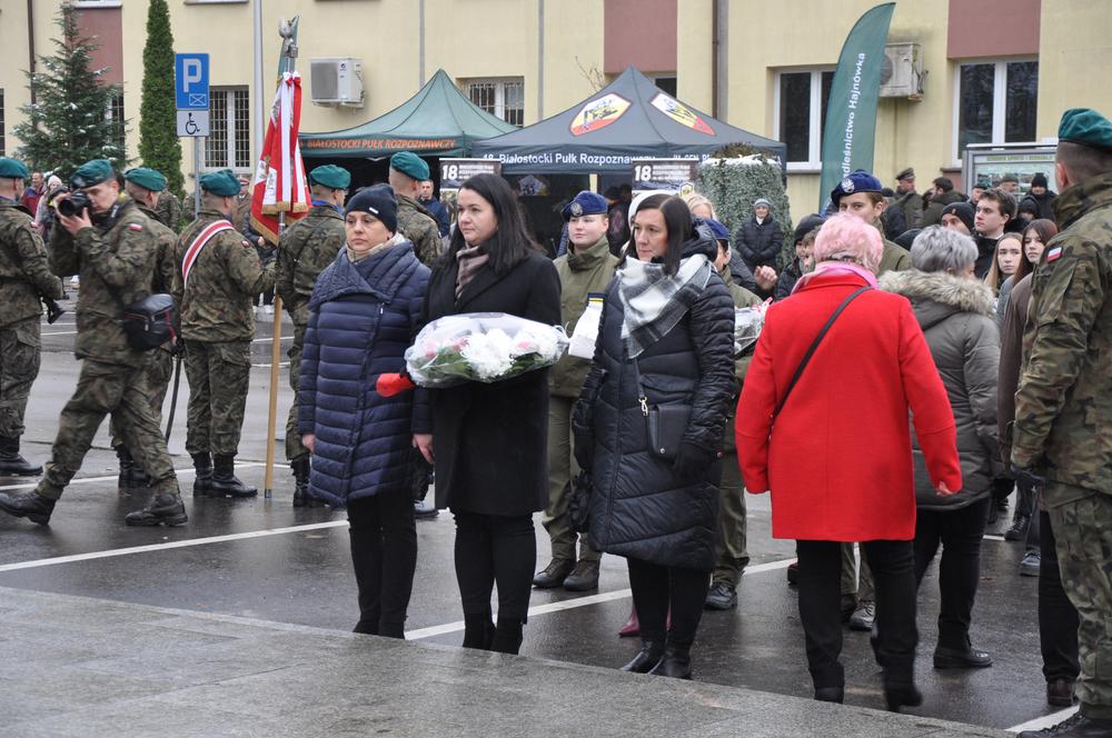
[[[150,231],[158,242],[151,292],[169,293],[173,287],[173,251],[178,245],[178,236],[165,226],[155,213],[157,205],[162,202],[160,196],[166,195],[166,177],[155,169],[139,167],[129,169],[123,174],[123,180],[128,196],[135,200],[139,211],[150,219]],[[167,341],[163,346],[150,351],[147,360],[147,398],[150,401],[150,411],[159,426],[162,425],[162,401],[166,399],[166,390],[172,373],[173,346]],[[112,448],[116,449],[116,456],[120,460],[120,487],[126,489],[146,486],[147,475],[136,466],[135,456],[123,442],[123,433],[120,431],[115,415],[112,416],[111,429]]]

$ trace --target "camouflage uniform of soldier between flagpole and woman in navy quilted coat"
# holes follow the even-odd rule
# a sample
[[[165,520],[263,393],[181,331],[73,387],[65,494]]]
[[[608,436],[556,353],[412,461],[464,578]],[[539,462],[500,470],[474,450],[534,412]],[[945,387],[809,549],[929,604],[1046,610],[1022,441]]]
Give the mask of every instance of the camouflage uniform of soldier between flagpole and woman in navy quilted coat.
[[[294,345],[287,355],[289,386],[294,389],[294,403],[286,421],[286,458],[290,461],[309,453],[309,449],[301,445],[301,433],[297,430],[297,386],[301,375],[305,329],[309,325],[309,298],[317,277],[336,260],[346,240],[344,216],[330,205],[315,205],[305,218],[286,229],[278,246],[276,287],[294,321]]]

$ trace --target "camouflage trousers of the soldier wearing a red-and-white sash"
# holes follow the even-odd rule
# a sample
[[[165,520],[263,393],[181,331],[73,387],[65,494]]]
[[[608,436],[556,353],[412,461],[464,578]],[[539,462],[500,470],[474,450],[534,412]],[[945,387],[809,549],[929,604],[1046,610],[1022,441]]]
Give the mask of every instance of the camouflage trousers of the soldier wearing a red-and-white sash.
[[[250,341],[186,341],[186,450],[235,456],[251,379]]]

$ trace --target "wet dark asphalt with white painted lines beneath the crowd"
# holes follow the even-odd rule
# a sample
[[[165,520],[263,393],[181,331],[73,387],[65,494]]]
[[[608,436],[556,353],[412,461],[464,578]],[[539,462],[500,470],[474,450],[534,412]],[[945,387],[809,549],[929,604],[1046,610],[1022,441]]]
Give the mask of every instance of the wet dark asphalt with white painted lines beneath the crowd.
[[[42,328],[42,369],[32,390],[23,438],[23,455],[34,462],[49,457],[58,412],[69,399],[79,368],[70,352],[72,313]],[[287,322],[284,333],[289,332]],[[269,326],[260,326],[258,336],[269,335]],[[260,340],[252,350],[257,366],[237,470],[240,478],[260,489],[269,368],[259,365],[269,363],[269,340]],[[282,367],[279,437],[291,398],[287,377]],[[116,457],[109,448],[106,422],[78,479],[56,508],[50,527],[0,515],[0,587],[349,630],[358,612],[345,513],[328,508],[294,509],[292,479],[285,465],[276,466],[269,500],[261,491],[250,500],[193,499],[189,493],[189,457],[182,447],[187,395],[182,377],[170,451],[179,469],[189,525],[173,529],[123,525],[125,513],[141,507],[146,493],[117,489]],[[163,416],[167,411],[168,407]],[[280,460],[280,441],[277,456]],[[32,485],[33,480],[0,478],[0,490],[4,491]],[[794,546],[771,538],[767,496],[748,496],[747,502],[753,560],[738,588],[738,607],[705,614],[693,650],[695,678],[811,697],[796,596],[786,585],[784,570]],[[1000,538],[1009,521],[1010,515],[1002,516],[984,542],[973,618],[974,645],[993,655],[994,666],[971,671],[931,668],[939,600],[937,569],[932,568],[920,595],[919,616],[917,679],[925,700],[911,714],[1010,728],[1053,711],[1045,704],[1041,674],[1037,579],[1019,576],[1022,545]],[[549,557],[539,516],[536,528],[540,568]],[[407,630],[411,638],[457,646],[461,612],[453,569],[451,516],[444,511],[434,520],[418,521],[417,533],[417,576]],[[631,607],[620,558],[603,558],[597,592],[534,590],[532,607],[524,655],[617,668],[638,648],[636,639],[616,635]],[[0,655],[2,650],[0,642]],[[846,702],[882,709],[880,674],[866,634],[846,631],[843,660]],[[775,720],[775,716],[767,719]]]

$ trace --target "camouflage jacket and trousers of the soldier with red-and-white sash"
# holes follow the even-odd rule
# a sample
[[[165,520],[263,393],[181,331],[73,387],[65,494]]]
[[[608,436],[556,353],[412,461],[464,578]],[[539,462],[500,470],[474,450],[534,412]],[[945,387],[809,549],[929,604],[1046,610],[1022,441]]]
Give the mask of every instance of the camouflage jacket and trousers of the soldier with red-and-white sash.
[[[181,260],[186,249],[217,220],[226,218],[216,210],[201,210],[178,239],[173,299],[181,306],[189,379],[186,450],[235,456],[251,373],[251,299],[274,286],[275,271],[272,265],[261,266],[240,233],[221,231],[197,256],[185,283]]]

